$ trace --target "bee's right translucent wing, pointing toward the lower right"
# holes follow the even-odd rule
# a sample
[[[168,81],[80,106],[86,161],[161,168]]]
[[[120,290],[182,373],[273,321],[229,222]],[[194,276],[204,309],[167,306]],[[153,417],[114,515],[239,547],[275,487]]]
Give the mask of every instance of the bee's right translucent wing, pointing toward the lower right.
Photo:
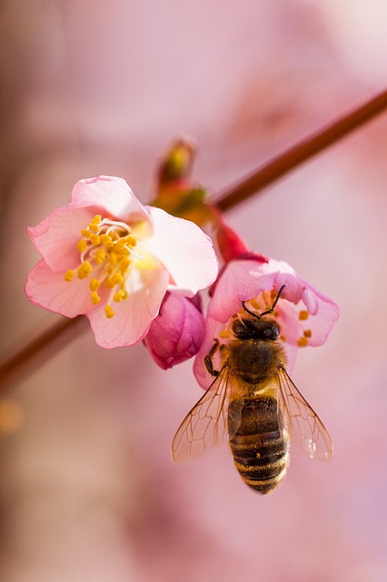
[[[333,454],[333,445],[327,429],[293,383],[285,368],[279,373],[280,399],[289,427],[303,451],[313,458],[328,461]]]

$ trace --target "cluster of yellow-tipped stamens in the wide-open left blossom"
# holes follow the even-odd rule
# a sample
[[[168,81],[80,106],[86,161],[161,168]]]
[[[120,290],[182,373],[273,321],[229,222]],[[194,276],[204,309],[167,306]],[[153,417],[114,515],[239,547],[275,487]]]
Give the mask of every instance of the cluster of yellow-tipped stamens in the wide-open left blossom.
[[[65,281],[73,281],[75,273],[78,279],[86,279],[93,273],[89,283],[91,301],[94,305],[101,301],[101,286],[109,289],[104,315],[111,318],[114,316],[112,302],[120,303],[129,296],[126,282],[133,257],[139,261],[143,259],[134,251],[141,241],[124,222],[103,219],[101,215],[95,215],[81,234],[76,244],[81,255],[80,264],[65,273]]]

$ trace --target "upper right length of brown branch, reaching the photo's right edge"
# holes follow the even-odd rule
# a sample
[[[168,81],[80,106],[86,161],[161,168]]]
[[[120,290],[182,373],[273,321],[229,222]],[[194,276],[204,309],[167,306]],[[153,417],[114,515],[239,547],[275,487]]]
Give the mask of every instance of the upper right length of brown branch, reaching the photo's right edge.
[[[350,134],[352,131],[370,121],[387,108],[387,91],[373,97],[364,105],[344,115],[323,131],[307,137],[302,142],[292,146],[280,156],[264,164],[250,176],[239,180],[234,186],[226,188],[213,203],[223,212],[230,210],[260,192],[266,186],[281,178],[296,166],[303,164],[307,159],[319,154],[324,149]]]

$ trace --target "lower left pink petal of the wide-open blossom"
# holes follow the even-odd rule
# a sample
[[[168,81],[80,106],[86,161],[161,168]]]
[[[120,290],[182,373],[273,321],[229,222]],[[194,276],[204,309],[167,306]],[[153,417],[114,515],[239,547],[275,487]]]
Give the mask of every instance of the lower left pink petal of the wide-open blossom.
[[[67,283],[63,273],[54,273],[41,259],[30,271],[25,284],[26,296],[37,306],[63,316],[74,317],[93,308],[84,280]]]

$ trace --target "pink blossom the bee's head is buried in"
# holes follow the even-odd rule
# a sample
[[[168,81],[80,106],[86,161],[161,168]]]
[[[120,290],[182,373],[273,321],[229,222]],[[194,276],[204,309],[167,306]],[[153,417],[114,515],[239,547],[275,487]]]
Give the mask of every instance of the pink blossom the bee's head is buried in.
[[[288,368],[293,367],[298,348],[321,346],[339,317],[339,307],[297,275],[284,261],[266,259],[261,255],[241,256],[224,267],[213,286],[208,307],[203,346],[195,358],[194,374],[207,388],[213,377],[203,365],[203,357],[213,346],[214,338],[227,341],[230,318],[243,310],[242,302],[257,314],[270,309],[273,299],[284,285],[273,317],[281,327],[281,340],[288,356]]]

